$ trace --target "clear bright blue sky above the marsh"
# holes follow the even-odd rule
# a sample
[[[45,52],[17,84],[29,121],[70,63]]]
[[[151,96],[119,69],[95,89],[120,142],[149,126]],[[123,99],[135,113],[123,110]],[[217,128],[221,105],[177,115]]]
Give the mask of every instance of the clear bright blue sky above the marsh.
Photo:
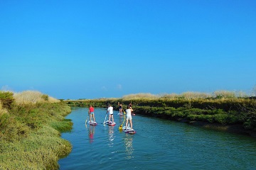
[[[55,98],[250,92],[255,0],[0,0],[0,88]]]

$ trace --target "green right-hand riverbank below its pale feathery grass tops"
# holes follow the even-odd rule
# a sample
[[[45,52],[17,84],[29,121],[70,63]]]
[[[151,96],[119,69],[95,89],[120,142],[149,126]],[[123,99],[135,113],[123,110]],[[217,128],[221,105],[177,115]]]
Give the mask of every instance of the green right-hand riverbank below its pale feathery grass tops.
[[[256,99],[241,97],[211,98],[101,98],[67,100],[70,106],[107,107],[111,103],[118,110],[118,103],[132,103],[135,114],[169,120],[183,121],[204,128],[226,130],[255,136]]]

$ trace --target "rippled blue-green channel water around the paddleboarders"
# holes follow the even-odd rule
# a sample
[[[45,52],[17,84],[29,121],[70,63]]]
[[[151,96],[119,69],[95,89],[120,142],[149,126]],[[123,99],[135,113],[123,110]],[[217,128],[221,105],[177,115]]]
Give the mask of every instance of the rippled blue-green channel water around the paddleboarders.
[[[96,126],[85,125],[87,108],[73,108],[66,118],[73,131],[62,137],[73,145],[59,160],[60,169],[256,169],[256,140],[158,118],[134,115],[136,134],[103,125],[105,108],[95,108]]]

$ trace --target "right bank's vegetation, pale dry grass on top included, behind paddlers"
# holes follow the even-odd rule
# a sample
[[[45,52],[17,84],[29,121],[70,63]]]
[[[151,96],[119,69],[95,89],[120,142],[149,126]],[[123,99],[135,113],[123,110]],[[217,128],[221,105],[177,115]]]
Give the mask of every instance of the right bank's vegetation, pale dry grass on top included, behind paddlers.
[[[237,96],[235,93],[223,91],[214,95],[185,93],[181,95],[154,96],[137,94],[123,98],[80,99],[65,101],[70,106],[87,107],[93,103],[96,107],[106,107],[112,103],[127,106],[132,103],[134,113],[156,116],[171,120],[203,121],[222,125],[239,124],[245,130],[256,131],[256,99],[254,97]]]

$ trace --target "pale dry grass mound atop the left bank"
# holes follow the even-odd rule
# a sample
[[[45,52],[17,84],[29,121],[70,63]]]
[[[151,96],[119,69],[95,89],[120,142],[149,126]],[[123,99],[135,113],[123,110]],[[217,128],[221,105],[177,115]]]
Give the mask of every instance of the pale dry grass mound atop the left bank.
[[[58,99],[42,94],[39,91],[22,91],[14,93],[17,104],[36,104],[36,103],[58,103]]]

